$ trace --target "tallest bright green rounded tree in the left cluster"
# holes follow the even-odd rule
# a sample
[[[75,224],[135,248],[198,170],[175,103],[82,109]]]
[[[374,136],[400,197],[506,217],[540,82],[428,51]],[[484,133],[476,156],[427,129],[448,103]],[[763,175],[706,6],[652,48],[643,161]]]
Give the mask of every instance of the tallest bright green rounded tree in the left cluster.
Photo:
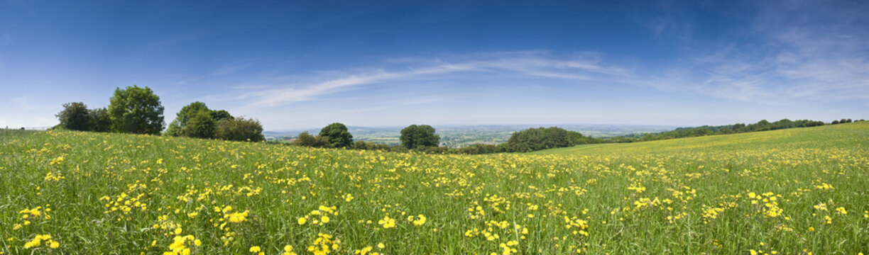
[[[160,134],[163,131],[163,105],[151,88],[136,85],[115,88],[109,99],[112,130],[132,134]]]

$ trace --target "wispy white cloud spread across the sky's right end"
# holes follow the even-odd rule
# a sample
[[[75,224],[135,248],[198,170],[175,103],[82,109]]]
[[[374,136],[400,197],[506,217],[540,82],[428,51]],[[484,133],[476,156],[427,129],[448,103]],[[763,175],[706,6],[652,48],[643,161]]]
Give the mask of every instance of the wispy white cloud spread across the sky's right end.
[[[754,4],[757,15],[746,27],[711,42],[720,46],[692,52],[638,82],[772,104],[869,99],[869,5]]]

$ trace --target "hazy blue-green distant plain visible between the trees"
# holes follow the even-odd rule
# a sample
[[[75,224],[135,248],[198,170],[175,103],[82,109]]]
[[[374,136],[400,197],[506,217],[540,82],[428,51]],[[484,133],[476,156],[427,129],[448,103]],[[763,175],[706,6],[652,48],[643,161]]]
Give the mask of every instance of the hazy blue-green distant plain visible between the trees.
[[[561,127],[570,131],[580,132],[591,137],[613,137],[627,134],[658,133],[673,130],[675,126],[655,125],[605,125],[605,124],[541,124],[541,125],[451,125],[434,126],[436,134],[441,135],[441,146],[465,147],[471,144],[499,144],[507,142],[510,135],[531,127]],[[354,141],[373,141],[390,146],[401,144],[401,128],[404,127],[353,127],[348,131],[353,134]],[[311,134],[320,133],[320,128],[286,131],[263,131],[267,141],[290,141],[299,133],[308,131]]]

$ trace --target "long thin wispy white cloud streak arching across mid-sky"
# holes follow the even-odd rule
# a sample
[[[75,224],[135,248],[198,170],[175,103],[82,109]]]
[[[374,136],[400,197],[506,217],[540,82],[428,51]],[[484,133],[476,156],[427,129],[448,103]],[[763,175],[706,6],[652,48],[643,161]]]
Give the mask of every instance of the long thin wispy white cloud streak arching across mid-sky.
[[[439,79],[454,79],[455,75],[476,73],[491,75],[520,75],[576,81],[603,81],[615,77],[627,77],[627,69],[601,64],[600,55],[581,54],[570,59],[554,59],[540,53],[499,53],[463,57],[462,62],[442,60],[401,59],[388,61],[401,63],[401,69],[354,69],[331,71],[311,76],[293,75],[280,85],[244,85],[248,91],[230,95],[214,95],[224,100],[251,101],[248,107],[273,107],[296,101],[316,100],[318,96],[334,94],[365,85],[391,82],[421,82]],[[284,77],[285,79],[288,79]]]

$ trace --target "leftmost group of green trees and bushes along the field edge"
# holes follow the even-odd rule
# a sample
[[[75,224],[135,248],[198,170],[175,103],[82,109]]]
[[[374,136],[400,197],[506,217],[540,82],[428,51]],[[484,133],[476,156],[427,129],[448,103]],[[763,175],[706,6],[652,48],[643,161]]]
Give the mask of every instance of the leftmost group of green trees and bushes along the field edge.
[[[148,87],[115,88],[108,108],[88,108],[81,101],[63,104],[55,115],[53,129],[127,134],[186,136],[228,141],[263,141],[262,124],[255,119],[234,117],[226,110],[211,110],[195,101],[183,107],[163,132],[163,105]]]

